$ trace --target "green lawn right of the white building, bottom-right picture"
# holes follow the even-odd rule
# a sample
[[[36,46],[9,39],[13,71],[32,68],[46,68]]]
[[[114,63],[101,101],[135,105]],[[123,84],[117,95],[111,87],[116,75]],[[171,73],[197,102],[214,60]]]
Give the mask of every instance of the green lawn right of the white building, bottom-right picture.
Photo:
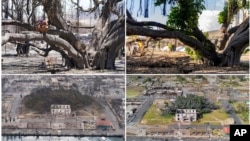
[[[203,114],[203,117],[194,124],[204,124],[209,122],[212,125],[220,125],[222,121],[229,118],[229,115],[222,109],[214,110],[211,113]]]

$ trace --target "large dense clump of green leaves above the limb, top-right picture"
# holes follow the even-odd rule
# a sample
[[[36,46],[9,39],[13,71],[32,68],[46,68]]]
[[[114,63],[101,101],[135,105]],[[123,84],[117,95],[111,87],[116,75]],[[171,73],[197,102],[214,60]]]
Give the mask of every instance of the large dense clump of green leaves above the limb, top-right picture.
[[[167,26],[176,30],[192,31],[197,27],[199,14],[204,9],[204,0],[179,0],[170,11]]]

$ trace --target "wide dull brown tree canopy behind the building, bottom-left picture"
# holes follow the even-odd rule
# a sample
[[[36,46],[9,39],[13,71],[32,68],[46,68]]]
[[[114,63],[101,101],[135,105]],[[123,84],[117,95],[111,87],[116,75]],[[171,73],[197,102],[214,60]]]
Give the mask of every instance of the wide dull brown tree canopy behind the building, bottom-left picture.
[[[91,104],[101,107],[95,99],[88,95],[82,95],[77,90],[41,88],[34,90],[30,95],[23,98],[26,108],[38,113],[46,113],[50,111],[52,104],[70,105],[72,111],[82,109]]]

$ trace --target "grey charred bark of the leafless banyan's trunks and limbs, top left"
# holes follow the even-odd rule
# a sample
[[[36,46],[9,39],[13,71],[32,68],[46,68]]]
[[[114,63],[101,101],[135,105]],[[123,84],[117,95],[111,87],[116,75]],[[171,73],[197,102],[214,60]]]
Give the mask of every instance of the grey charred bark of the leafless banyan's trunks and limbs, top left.
[[[122,17],[122,15],[119,15],[119,12],[116,11],[116,4],[121,1],[122,0],[111,0],[103,3],[102,13],[99,17],[99,25],[97,24],[95,26],[96,36],[93,34],[93,40],[95,40],[97,44],[92,44],[92,46],[90,47],[86,47],[82,42],[80,42],[79,44],[76,36],[68,30],[69,26],[67,25],[66,20],[63,18],[62,5],[60,0],[33,0],[32,11],[30,11],[29,7],[24,7],[24,9],[26,9],[28,13],[31,12],[28,17],[29,24],[20,22],[19,20],[3,21],[3,25],[17,25],[18,27],[24,27],[25,29],[29,30],[29,32],[23,32],[23,34],[15,35],[6,34],[5,36],[3,36],[2,44],[17,40],[44,40],[50,45],[50,48],[36,47],[36,51],[40,55],[46,56],[48,55],[49,51],[56,50],[65,58],[66,65],[69,68],[88,68],[90,66],[89,57],[92,57],[89,56],[89,54],[92,54],[92,52],[94,52],[97,55],[95,58],[98,58],[96,60],[104,61],[104,63],[94,64],[96,68],[114,69],[115,56],[117,55],[118,50],[121,49],[125,44],[125,20],[123,17],[123,23],[121,23],[120,17]],[[45,36],[36,34],[36,32],[32,32],[35,31],[35,28],[34,26],[32,26],[32,24],[30,24],[36,22],[34,12],[36,10],[36,6],[38,5],[43,5],[43,10],[48,16],[50,25],[56,27],[56,29],[52,29],[49,27],[49,30],[47,31]],[[79,5],[77,6],[79,8]],[[98,7],[99,1],[94,0],[94,8],[88,12],[93,12],[93,10],[97,10]],[[117,19],[119,20],[112,21],[111,15],[116,15]],[[98,57],[98,54],[101,54],[100,58]]]

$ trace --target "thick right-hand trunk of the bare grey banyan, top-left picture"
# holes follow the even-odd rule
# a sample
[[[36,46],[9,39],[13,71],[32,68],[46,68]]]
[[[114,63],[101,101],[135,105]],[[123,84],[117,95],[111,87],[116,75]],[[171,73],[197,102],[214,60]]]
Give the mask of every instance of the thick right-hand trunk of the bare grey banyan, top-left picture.
[[[125,45],[125,17],[122,16],[118,20],[114,20],[105,25],[104,29],[96,34],[95,47],[97,53],[93,62],[96,69],[115,69],[115,59],[119,50]],[[98,29],[96,29],[98,31]],[[96,32],[98,33],[98,32]],[[101,39],[100,39],[101,38]],[[98,57],[100,59],[98,59]]]

